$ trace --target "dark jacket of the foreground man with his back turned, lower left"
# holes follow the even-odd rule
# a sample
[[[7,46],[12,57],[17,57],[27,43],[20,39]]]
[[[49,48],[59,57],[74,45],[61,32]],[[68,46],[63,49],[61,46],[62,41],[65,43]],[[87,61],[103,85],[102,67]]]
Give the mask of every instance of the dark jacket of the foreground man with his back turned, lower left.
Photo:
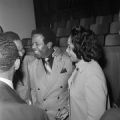
[[[0,81],[0,120],[48,120],[47,114],[27,105],[15,90]]]

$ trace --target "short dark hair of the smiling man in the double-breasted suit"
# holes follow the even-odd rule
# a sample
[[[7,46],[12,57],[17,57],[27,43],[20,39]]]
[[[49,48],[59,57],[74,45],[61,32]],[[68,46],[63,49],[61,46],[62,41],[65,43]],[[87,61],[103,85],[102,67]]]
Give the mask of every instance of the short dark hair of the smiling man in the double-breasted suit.
[[[35,34],[42,34],[44,36],[44,43],[47,44],[48,42],[52,42],[53,46],[56,45],[56,35],[54,32],[48,27],[41,27],[39,29],[35,29],[31,33],[31,37]]]

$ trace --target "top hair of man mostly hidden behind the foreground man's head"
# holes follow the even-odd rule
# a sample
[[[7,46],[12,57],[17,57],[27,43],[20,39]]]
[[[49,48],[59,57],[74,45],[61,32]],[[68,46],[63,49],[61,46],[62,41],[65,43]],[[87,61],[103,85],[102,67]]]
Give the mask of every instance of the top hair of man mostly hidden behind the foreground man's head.
[[[5,37],[8,39],[8,40],[20,40],[20,37],[17,33],[13,32],[13,31],[7,31],[7,32],[4,32]]]

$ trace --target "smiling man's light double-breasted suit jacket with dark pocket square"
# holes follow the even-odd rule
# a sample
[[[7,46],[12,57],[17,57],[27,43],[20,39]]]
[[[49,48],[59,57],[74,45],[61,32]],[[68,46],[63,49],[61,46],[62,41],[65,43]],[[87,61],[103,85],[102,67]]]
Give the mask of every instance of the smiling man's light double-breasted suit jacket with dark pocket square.
[[[57,112],[68,106],[68,79],[73,65],[67,53],[54,56],[52,72],[47,74],[41,59],[35,59],[28,65],[24,78],[25,100],[44,109],[50,120],[54,120]]]

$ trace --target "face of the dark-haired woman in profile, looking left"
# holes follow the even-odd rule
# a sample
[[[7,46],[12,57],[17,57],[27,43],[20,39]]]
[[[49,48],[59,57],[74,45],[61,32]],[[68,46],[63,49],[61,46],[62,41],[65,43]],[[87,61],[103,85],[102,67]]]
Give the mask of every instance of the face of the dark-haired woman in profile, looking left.
[[[72,62],[77,62],[78,61],[78,58],[76,56],[76,54],[74,53],[74,45],[72,43],[72,40],[71,40],[71,36],[68,38],[68,47],[66,49],[66,52],[68,53],[70,59],[72,60]]]

